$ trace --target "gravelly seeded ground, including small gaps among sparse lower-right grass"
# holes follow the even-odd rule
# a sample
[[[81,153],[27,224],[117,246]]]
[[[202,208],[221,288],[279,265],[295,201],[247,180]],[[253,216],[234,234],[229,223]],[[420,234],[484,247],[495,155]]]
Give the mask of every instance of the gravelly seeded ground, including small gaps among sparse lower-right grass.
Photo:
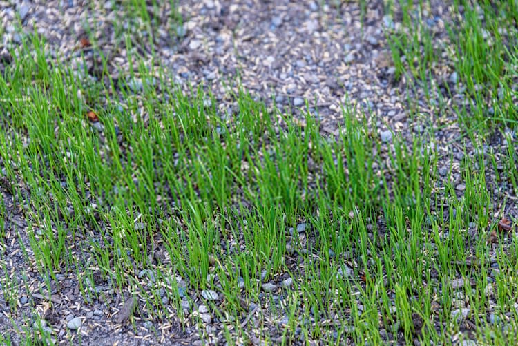
[[[449,17],[449,6],[444,1],[430,1],[426,6],[428,10],[424,11],[423,22],[433,32],[433,42],[437,47],[448,44],[445,23],[452,21]],[[85,79],[106,78],[106,75],[102,76],[102,72],[96,70],[101,65],[98,55],[102,52],[108,57],[108,74],[113,80],[123,83],[126,76],[121,71],[128,71],[129,67],[125,42],[117,34],[116,22],[119,21],[119,24],[124,23],[123,27],[126,26],[124,30],[133,33],[131,44],[142,57],[144,65],[147,64],[144,69],[160,65],[170,70],[175,82],[186,92],[189,92],[189,86],[210,90],[214,97],[206,100],[209,106],[226,110],[229,114],[235,113],[239,106],[232,92],[238,93],[239,86],[242,86],[254,98],[264,101],[267,107],[276,107],[284,113],[291,112],[300,119],[299,122],[305,122],[303,114],[307,102],[307,110],[316,119],[320,134],[332,141],[340,134],[339,127],[344,122],[342,105],[356,106],[354,109],[358,117],[363,113],[367,114],[363,122],[372,131],[370,135],[379,140],[382,153],[393,147],[394,135],[401,136],[408,145],[412,144],[412,138],[420,136],[423,138],[423,148],[428,148],[437,155],[438,173],[443,177],[448,175],[454,189],[452,194],[461,198],[466,193],[466,181],[461,166],[465,157],[476,156],[476,150],[480,148],[463,141],[477,131],[466,132],[459,122],[458,113],[454,111],[454,106],[463,104],[464,98],[452,59],[444,54],[438,58],[437,64],[427,70],[430,78],[439,85],[431,95],[425,95],[425,88],[415,84],[409,88],[412,81],[410,75],[396,78],[396,68],[385,34],[387,28],[392,28],[394,23],[401,21],[401,14],[398,15],[399,12],[396,11],[393,16],[387,16],[383,1],[367,1],[365,8],[355,1],[338,1],[336,6],[329,1],[179,1],[177,10],[184,23],[171,31],[171,6],[151,8],[149,13],[155,21],[155,30],[153,35],[148,35],[145,28],[138,26],[138,23],[126,20],[122,5],[118,3],[34,1],[15,6],[10,1],[0,1],[0,18],[4,26],[2,45],[6,48],[6,55],[3,55],[5,59],[0,62],[0,66],[6,68],[10,64],[7,48],[21,44],[23,34],[15,30],[15,23],[19,18],[26,30],[31,30],[34,25],[35,31],[48,42],[48,50],[55,52],[59,59],[67,61],[79,73],[84,73]],[[171,32],[176,32],[177,35],[172,35]],[[95,49],[91,49],[90,44]],[[79,56],[78,51],[83,55]],[[145,88],[142,84],[146,84],[146,79],[143,81],[137,72],[129,83],[133,83],[131,89],[138,91]],[[440,93],[442,95],[437,95]],[[512,128],[506,125],[496,126],[481,135],[483,151],[501,153],[505,133],[510,134],[511,143],[515,145],[516,135]],[[3,165],[7,166],[8,162],[3,162]],[[479,234],[486,234],[486,231],[491,233],[501,228],[497,227],[497,222],[504,216],[509,220],[518,218],[515,192],[510,183],[495,179],[494,171],[497,171],[497,166],[500,167],[500,164],[495,164],[495,170],[488,167],[485,173],[487,189],[492,194],[492,205],[486,206],[492,211],[492,226],[483,231],[477,231],[475,223],[463,227],[466,232],[476,233],[473,237],[477,239],[477,244],[485,241],[478,240],[481,237]],[[31,248],[28,234],[32,232],[34,225],[28,229],[31,221],[26,218],[27,210],[24,211],[24,206],[16,202],[10,184],[11,182],[7,182],[0,187],[7,215],[2,258],[6,280],[2,285],[4,288],[7,285],[17,286],[21,281],[24,285],[15,290],[15,312],[10,309],[6,294],[0,296],[1,309],[4,312],[0,314],[0,332],[4,336],[10,336],[15,344],[26,343],[25,337],[32,340],[34,334],[43,333],[37,331],[35,320],[46,321],[41,329],[52,334],[51,339],[57,343],[77,343],[81,340],[84,345],[201,345],[223,344],[229,339],[236,343],[244,343],[246,340],[252,344],[352,343],[353,340],[358,340],[347,337],[337,339],[336,330],[340,329],[340,335],[347,335],[348,324],[345,317],[338,315],[336,320],[329,316],[323,318],[325,320],[320,320],[318,316],[311,320],[315,325],[322,323],[326,327],[340,323],[340,328],[334,330],[331,327],[328,334],[323,332],[320,341],[320,337],[301,333],[300,328],[298,333],[295,328],[293,335],[285,338],[285,328],[291,323],[291,319],[288,323],[287,316],[279,311],[275,314],[269,310],[269,305],[274,300],[282,300],[287,296],[282,289],[279,294],[271,296],[269,290],[263,287],[263,292],[257,296],[256,301],[245,301],[239,321],[243,331],[236,332],[236,335],[233,334],[234,329],[225,331],[222,327],[224,316],[211,314],[207,310],[206,300],[210,301],[210,297],[207,299],[207,295],[203,295],[201,290],[192,289],[185,278],[179,278],[178,285],[187,287],[182,291],[182,295],[189,297],[189,300],[182,300],[186,318],[178,316],[176,307],[167,307],[167,295],[162,292],[159,299],[166,306],[166,318],[154,319],[148,317],[146,312],[140,312],[131,317],[133,323],[128,323],[124,318],[119,320],[117,316],[120,316],[121,309],[127,308],[128,291],[114,287],[113,282],[100,275],[96,276],[95,269],[90,280],[95,283],[93,286],[98,295],[84,298],[76,271],[55,273],[49,292],[49,285],[35,263],[28,262],[28,258],[31,258],[30,253],[26,256],[27,249]],[[439,197],[435,202],[437,205],[434,207],[438,210],[438,205],[444,200]],[[442,215],[445,220],[454,218],[448,211]],[[372,223],[376,224],[376,220],[372,220]],[[306,223],[303,220],[292,226],[302,236],[305,236],[306,231],[308,238],[313,237],[309,227],[305,229]],[[388,232],[380,220],[375,227],[382,235]],[[291,233],[293,232],[294,229],[291,229]],[[305,241],[304,238],[301,241]],[[486,253],[487,272],[484,272],[483,280],[488,282],[495,282],[495,276],[499,274],[499,252],[494,243],[490,242]],[[81,252],[80,244],[80,240],[75,243],[77,253]],[[502,240],[501,244],[514,243],[508,239]],[[510,247],[512,246],[509,245]],[[463,267],[463,276],[445,276],[437,280],[432,270],[431,277],[428,276],[429,284],[437,287],[452,285],[456,289],[475,286],[473,282],[470,283],[470,270],[468,268],[466,271],[466,267],[476,262],[476,251],[474,245],[468,244],[466,249],[466,258],[459,265]],[[289,253],[286,258],[287,267],[293,269],[294,273],[300,265],[300,258],[297,252]],[[347,268],[358,268],[358,258],[345,255],[340,258],[350,266]],[[96,267],[93,262],[90,266]],[[383,275],[386,276],[386,269],[383,268]],[[508,267],[510,270],[512,268],[513,265]],[[135,268],[134,274],[137,281],[144,282],[146,279],[145,271]],[[290,277],[287,271],[278,272],[272,274],[268,282],[281,287],[282,282]],[[260,279],[261,282],[263,279]],[[164,284],[162,289],[169,288]],[[437,294],[440,296],[441,291],[437,291]],[[50,302],[49,296],[52,297]],[[453,300],[466,300],[457,298]],[[144,311],[146,298],[137,294],[137,299],[137,311]],[[222,305],[223,311],[222,298],[215,301],[216,305]],[[508,303],[512,306],[516,302]],[[459,307],[457,310],[452,307],[449,309],[452,312],[457,311],[456,314],[464,314],[466,304],[469,305],[469,302],[456,305]],[[491,311],[491,307],[499,303],[494,296],[488,294],[485,304],[488,311]],[[432,306],[428,307],[428,311],[433,314],[434,309],[443,308],[445,307],[442,305]],[[363,306],[359,309],[363,311]],[[508,312],[501,311],[503,315]],[[352,313],[349,311],[349,314]],[[201,316],[201,322],[197,316]],[[508,320],[512,320],[513,316],[516,315],[508,315]],[[423,325],[423,318],[419,315],[412,314],[411,317],[413,325]],[[75,330],[77,327],[68,325],[75,318],[81,319],[79,332]],[[495,316],[492,318],[495,319]],[[478,335],[474,327],[479,325],[476,319],[477,316],[472,316],[472,320],[466,318],[466,321],[460,323],[460,327],[450,330],[450,341],[455,343],[463,339],[463,345],[476,345],[474,341],[470,344],[466,340],[474,339]],[[441,329],[447,329],[445,325],[441,325],[440,319],[434,320],[432,324],[434,325],[430,329],[439,333]],[[383,333],[386,339],[382,336],[381,340],[387,343],[388,340],[392,340],[391,343],[405,343],[406,335],[403,336],[403,331],[398,331],[397,328],[394,331],[383,329]],[[417,334],[414,340],[419,342]]]

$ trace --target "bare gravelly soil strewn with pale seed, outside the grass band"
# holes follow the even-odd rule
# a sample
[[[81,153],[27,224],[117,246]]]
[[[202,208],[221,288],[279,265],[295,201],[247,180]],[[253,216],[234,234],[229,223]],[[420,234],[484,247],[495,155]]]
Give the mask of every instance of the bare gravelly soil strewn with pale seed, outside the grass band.
[[[231,92],[238,92],[240,85],[268,106],[276,106],[285,112],[291,111],[299,117],[308,102],[308,110],[320,122],[320,130],[329,136],[339,133],[343,122],[342,104],[356,105],[358,117],[368,113],[367,121],[374,136],[380,136],[383,145],[392,145],[392,133],[401,133],[408,140],[412,135],[430,138],[434,134],[433,145],[441,157],[443,169],[453,171],[459,196],[463,195],[462,177],[459,171],[463,159],[463,147],[459,138],[462,133],[448,109],[430,106],[425,101],[421,88],[407,90],[409,77],[399,81],[394,79],[394,66],[390,48],[385,39],[385,28],[397,23],[385,16],[383,1],[367,1],[365,13],[358,3],[336,1],[338,6],[321,4],[321,1],[180,1],[179,12],[184,17],[183,29],[177,29],[178,37],[171,35],[171,8],[163,6],[152,17],[157,25],[152,38],[142,32],[137,24],[129,23],[134,32],[133,44],[140,54],[149,56],[155,50],[157,60],[149,64],[160,64],[171,69],[175,81],[187,90],[188,85],[202,86],[211,90],[220,109],[229,113],[236,111],[236,103]],[[329,1],[324,1],[329,2]],[[333,1],[331,1],[333,2]],[[106,6],[102,2],[90,1],[35,1],[15,6],[11,1],[0,2],[0,18],[6,29],[4,47],[20,44],[21,37],[15,31],[15,17],[21,16],[23,28],[31,31],[32,25],[39,35],[48,40],[48,49],[61,59],[70,60],[71,66],[81,70],[84,53],[88,75],[97,78],[100,61],[98,52],[109,57],[111,74],[115,79],[124,80],[116,68],[128,70],[126,52],[115,35],[113,21],[117,20],[117,6]],[[445,6],[442,1],[432,1],[427,21],[435,32],[437,45],[448,44],[444,22]],[[119,14],[120,15],[120,14]],[[84,30],[88,22],[93,32]],[[86,44],[88,39],[93,48]],[[0,46],[1,48],[1,46]],[[0,66],[10,64],[4,55]],[[450,90],[456,86],[452,78],[452,66],[448,57],[430,71],[437,81],[448,84]],[[142,82],[142,81],[140,81]],[[139,82],[137,81],[137,84]],[[135,86],[138,89],[139,86]],[[140,86],[142,88],[142,86]],[[447,95],[446,104],[459,103],[459,95]],[[407,102],[410,92],[412,104],[419,109],[419,117],[410,117]],[[499,150],[501,135],[487,142],[488,148]],[[468,155],[472,151],[468,147]],[[492,182],[488,172],[488,181]],[[495,186],[495,210],[500,209],[500,198],[510,195],[507,186]],[[35,314],[44,318],[48,326],[43,329],[52,332],[59,343],[84,345],[200,345],[200,336],[210,343],[224,343],[222,328],[217,318],[209,323],[180,322],[171,314],[163,321],[146,322],[142,301],[137,302],[133,325],[127,320],[117,322],[117,314],[124,307],[126,299],[109,287],[104,278],[97,278],[97,287],[106,287],[99,296],[84,303],[79,292],[79,284],[70,272],[50,283],[50,294],[46,279],[41,278],[32,263],[26,262],[17,239],[30,249],[28,222],[23,206],[13,202],[8,184],[0,188],[7,208],[6,249],[2,249],[2,262],[6,265],[12,285],[25,276],[28,287],[20,287],[19,297],[13,297],[15,306],[10,309],[5,296],[0,296],[0,333],[8,333],[15,343],[23,343],[20,330],[34,331]],[[515,198],[508,200],[501,213],[518,218]],[[18,236],[20,234],[20,237]],[[27,254],[30,258],[30,253]],[[294,258],[296,254],[293,255]],[[289,262],[289,260],[288,260]],[[296,267],[296,259],[292,260]],[[289,263],[288,263],[289,264]],[[17,278],[15,280],[15,278]],[[273,278],[281,282],[287,277]],[[3,285],[6,285],[4,282]],[[49,304],[48,298],[53,301]],[[267,304],[267,298],[264,302]],[[193,297],[196,297],[194,294]],[[198,309],[199,298],[195,298]],[[248,338],[252,343],[260,343],[262,334],[270,334],[271,340],[280,341],[282,317],[274,318],[263,313],[258,305],[249,304],[248,316],[243,316],[242,325],[250,326]],[[173,311],[173,310],[171,310]],[[73,318],[81,318],[79,334],[67,327]],[[418,318],[419,319],[419,318]],[[415,323],[419,323],[416,321]],[[421,322],[422,323],[422,322]],[[439,328],[441,326],[438,326]],[[37,335],[38,333],[35,332]],[[318,340],[306,340],[318,343]],[[304,343],[303,339],[294,343]]]

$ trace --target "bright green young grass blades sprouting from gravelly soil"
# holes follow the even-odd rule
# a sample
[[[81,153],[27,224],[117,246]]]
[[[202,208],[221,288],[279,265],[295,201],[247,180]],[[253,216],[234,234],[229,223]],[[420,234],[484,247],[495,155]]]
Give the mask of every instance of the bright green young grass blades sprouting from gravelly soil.
[[[126,5],[145,9],[141,1]],[[413,8],[401,3],[406,30],[388,35],[397,75],[408,70],[416,87],[437,85],[426,71],[439,57]],[[495,43],[481,39],[484,25],[469,6],[450,39],[453,68],[475,102],[454,109],[470,133],[462,144],[483,151],[473,126],[486,137],[516,122],[518,55],[497,26],[516,21],[515,3],[483,2],[478,10]],[[369,115],[344,105],[340,135],[323,137],[314,115],[294,122],[244,90],[229,95],[238,109],[228,114],[202,86],[180,90],[137,53],[128,80],[155,84],[140,93],[123,84],[119,99],[110,97],[113,83],[85,84],[66,64],[49,65],[45,47],[30,35],[0,77],[5,185],[28,222],[6,234],[2,216],[1,242],[20,243],[27,270],[37,270],[49,292],[57,275],[72,275],[85,304],[106,299],[95,287],[100,277],[113,291],[137,294],[142,318],[173,314],[185,323],[182,300],[204,301],[202,291],[212,289],[222,299],[206,304],[231,344],[249,338],[243,301],[260,305],[262,323],[287,316],[283,343],[303,335],[337,344],[450,344],[468,338],[459,318],[466,307],[470,338],[517,343],[517,237],[497,230],[502,215],[494,208],[495,187],[517,194],[510,132],[500,152],[465,155],[459,193],[451,172],[439,174],[448,157],[428,145],[433,133],[395,135],[388,145],[367,126]],[[488,244],[493,231],[496,251]],[[28,282],[2,267],[1,294],[15,314]],[[292,278],[289,289],[262,292],[263,282],[280,276]],[[19,334],[33,342],[30,331]],[[39,334],[52,337],[43,325]]]

